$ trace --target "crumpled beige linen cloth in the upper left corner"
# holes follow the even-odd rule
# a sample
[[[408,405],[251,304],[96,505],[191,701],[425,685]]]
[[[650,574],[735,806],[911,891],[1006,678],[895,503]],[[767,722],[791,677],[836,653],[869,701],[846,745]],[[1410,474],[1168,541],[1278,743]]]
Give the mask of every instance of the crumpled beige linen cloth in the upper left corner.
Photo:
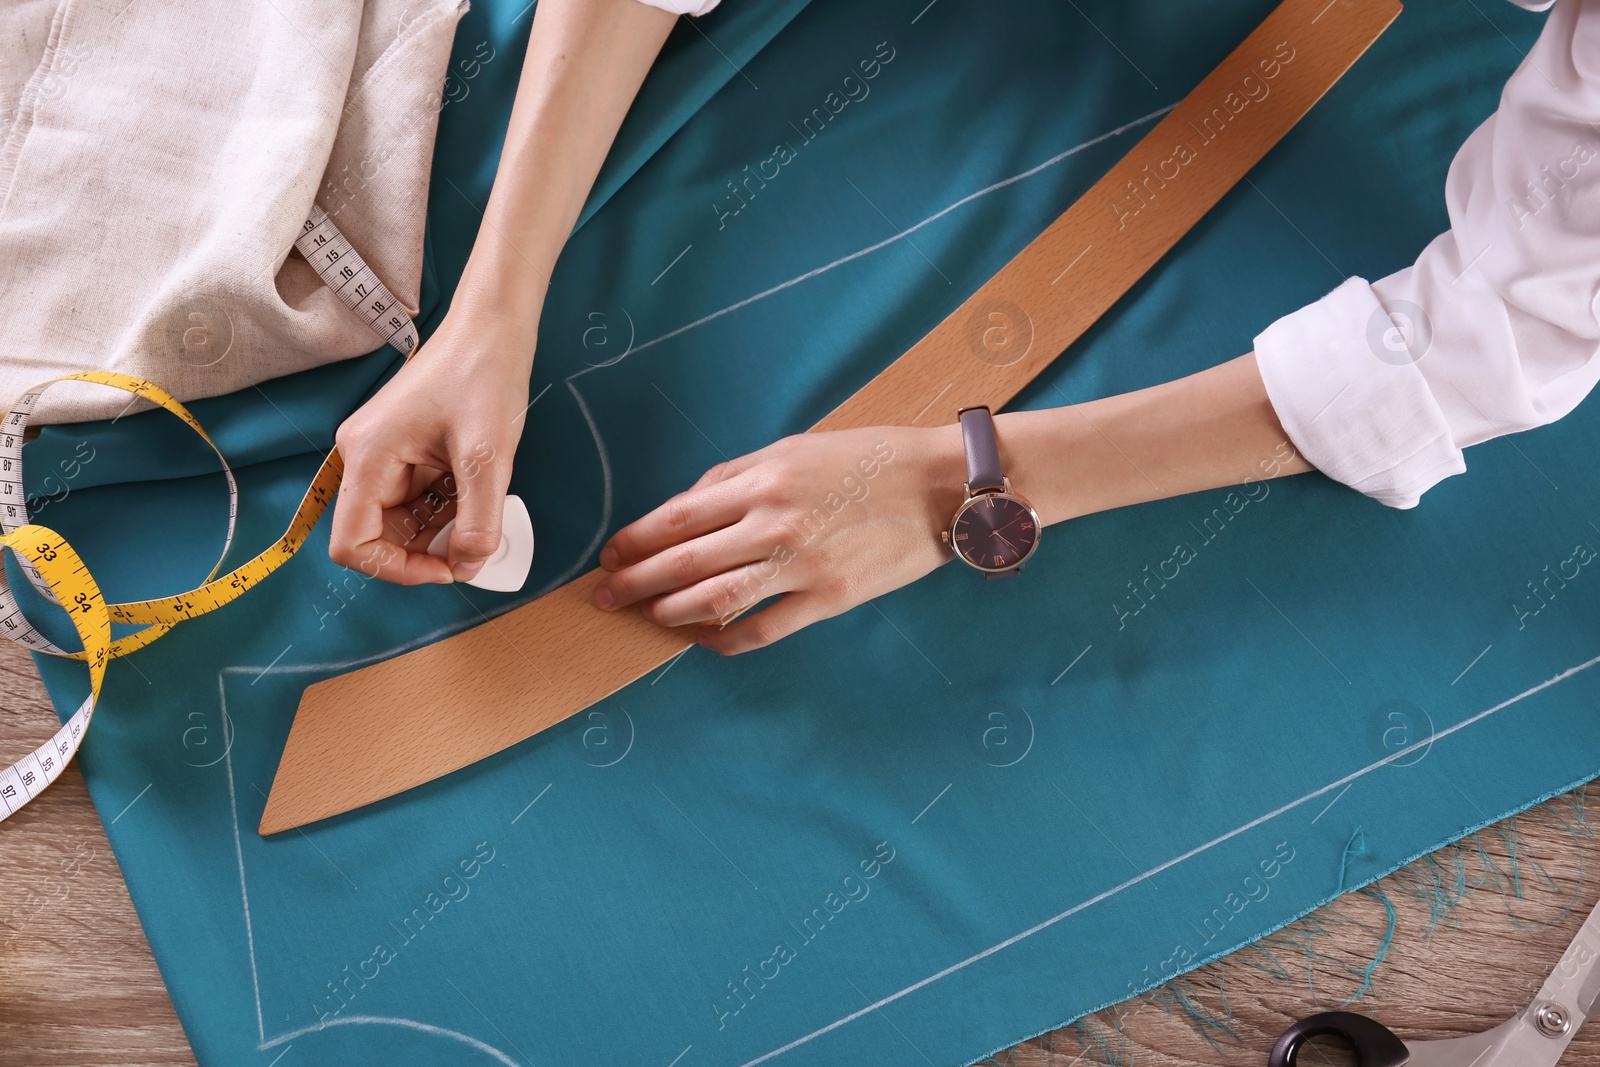
[[[0,405],[213,397],[378,347],[290,254],[314,198],[410,312],[466,0],[0,0]],[[69,382],[51,422],[126,394]]]

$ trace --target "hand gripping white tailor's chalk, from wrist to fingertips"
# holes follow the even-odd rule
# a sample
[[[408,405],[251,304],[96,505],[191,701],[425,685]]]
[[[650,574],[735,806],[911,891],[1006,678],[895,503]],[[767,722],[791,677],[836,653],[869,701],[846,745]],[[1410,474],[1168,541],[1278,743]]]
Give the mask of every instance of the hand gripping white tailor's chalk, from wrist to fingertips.
[[[339,427],[334,563],[403,585],[467,581],[499,547],[538,325],[459,302]],[[427,553],[451,518],[448,561]]]

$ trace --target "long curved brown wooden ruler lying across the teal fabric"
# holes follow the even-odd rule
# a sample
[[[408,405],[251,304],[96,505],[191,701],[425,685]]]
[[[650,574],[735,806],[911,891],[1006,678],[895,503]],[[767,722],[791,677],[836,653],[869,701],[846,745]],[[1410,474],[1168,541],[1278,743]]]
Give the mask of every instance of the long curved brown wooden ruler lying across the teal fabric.
[[[1400,13],[1285,0],[1112,170],[813,430],[1003,406],[1254,166]],[[595,569],[435,645],[306,689],[261,817],[277,833],[494,755],[694,643],[589,603]]]

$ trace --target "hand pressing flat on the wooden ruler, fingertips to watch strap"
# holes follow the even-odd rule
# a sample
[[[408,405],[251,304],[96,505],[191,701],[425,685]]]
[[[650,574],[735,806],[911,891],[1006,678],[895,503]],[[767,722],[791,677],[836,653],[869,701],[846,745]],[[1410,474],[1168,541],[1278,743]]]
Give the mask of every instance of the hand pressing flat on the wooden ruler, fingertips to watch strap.
[[[712,622],[699,643],[722,654],[771,645],[949,560],[939,531],[965,475],[957,426],[786,437],[613,534],[594,603],[638,603],[661,625]],[[776,605],[720,624],[776,593]]]

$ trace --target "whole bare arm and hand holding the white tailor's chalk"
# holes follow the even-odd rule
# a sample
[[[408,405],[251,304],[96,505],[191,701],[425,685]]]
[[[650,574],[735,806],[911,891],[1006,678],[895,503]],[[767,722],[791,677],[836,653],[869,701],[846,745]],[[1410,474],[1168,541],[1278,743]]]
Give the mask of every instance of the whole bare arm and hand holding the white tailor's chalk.
[[[494,187],[450,314],[339,427],[334,563],[406,585],[464,581],[499,545],[550,270],[675,22],[635,0],[534,10]],[[446,565],[427,544],[453,514]]]

